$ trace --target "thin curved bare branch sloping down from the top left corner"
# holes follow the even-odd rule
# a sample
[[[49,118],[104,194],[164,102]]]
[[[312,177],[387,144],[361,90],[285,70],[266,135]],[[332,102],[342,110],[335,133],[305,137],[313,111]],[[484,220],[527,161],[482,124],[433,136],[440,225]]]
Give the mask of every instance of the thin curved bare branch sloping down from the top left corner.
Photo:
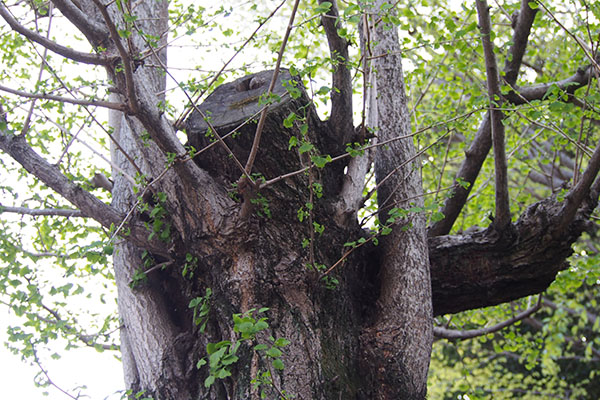
[[[52,40],[45,38],[44,36],[27,29],[21,25],[8,11],[3,3],[0,3],[0,16],[4,18],[6,23],[15,31],[25,36],[29,40],[36,42],[46,49],[53,51],[54,53],[60,54],[61,56],[68,58],[73,61],[81,62],[84,64],[92,65],[110,65],[114,58],[109,58],[104,55],[97,55],[92,53],[83,53],[77,50],[73,50],[69,47],[62,46]]]

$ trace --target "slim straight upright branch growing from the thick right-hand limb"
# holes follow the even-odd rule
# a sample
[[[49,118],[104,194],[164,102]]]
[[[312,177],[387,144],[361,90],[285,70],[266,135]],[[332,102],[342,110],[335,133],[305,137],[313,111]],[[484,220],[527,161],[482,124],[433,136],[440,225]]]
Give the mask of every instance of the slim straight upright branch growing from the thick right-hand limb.
[[[487,74],[488,96],[490,98],[490,118],[492,129],[492,143],[494,148],[494,165],[496,174],[496,218],[494,226],[502,232],[511,223],[510,199],[508,195],[508,173],[506,162],[506,148],[504,145],[504,114],[498,108],[502,106],[502,92],[498,65],[494,54],[494,44],[490,40],[491,20],[490,10],[486,0],[476,0],[477,14],[479,16],[479,29],[485,58]]]

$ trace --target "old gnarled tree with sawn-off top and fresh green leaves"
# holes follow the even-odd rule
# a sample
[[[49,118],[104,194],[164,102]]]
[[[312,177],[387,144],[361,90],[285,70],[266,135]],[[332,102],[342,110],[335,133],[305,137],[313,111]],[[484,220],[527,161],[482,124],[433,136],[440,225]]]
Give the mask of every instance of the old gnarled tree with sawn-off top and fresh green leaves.
[[[256,31],[235,52],[260,43],[263,26],[287,13],[281,37],[273,31],[262,37],[276,54],[268,70],[253,68],[223,83],[226,64],[207,82],[199,81],[200,72],[182,82],[167,67],[169,35],[185,29],[208,41],[212,19],[234,10],[172,6],[170,13],[164,1],[0,5],[13,31],[3,43],[4,63],[12,67],[3,82],[15,82],[0,87],[6,94],[0,148],[19,167],[3,165],[14,179],[33,179],[30,188],[38,191],[26,201],[36,209],[3,204],[3,211],[52,216],[36,222],[46,253],[89,237],[96,243],[70,257],[102,265],[112,256],[114,272],[80,271],[65,253],[55,254],[69,278],[114,274],[132,395],[424,398],[434,334],[493,332],[434,328],[435,316],[540,293],[568,267],[572,244],[591,226],[600,190],[600,148],[588,148],[598,101],[590,85],[598,72],[591,17],[577,25],[572,22],[579,14],[570,13],[561,23],[549,5],[522,1],[501,9],[507,16],[516,11],[509,28],[492,25],[484,1],[477,1],[476,13],[464,9],[460,15],[440,4],[433,12],[382,0],[267,3],[265,9],[275,11],[257,19]],[[256,15],[259,6],[236,11]],[[586,16],[600,16],[596,6],[582,7]],[[539,14],[547,19],[535,29]],[[89,52],[51,38],[50,21],[59,16],[68,21],[66,30],[85,37]],[[235,34],[231,27],[221,32]],[[548,32],[562,43],[532,49],[532,32],[536,45],[550,40]],[[410,44],[425,50],[411,60]],[[577,57],[561,60],[568,54],[561,45]],[[31,48],[41,49],[41,62],[27,55]],[[555,79],[528,60],[551,51],[561,62]],[[414,78],[405,77],[403,60],[416,61],[409,63]],[[449,69],[450,60],[456,69]],[[67,79],[61,71],[73,63],[103,68],[107,78]],[[565,76],[572,63],[577,72]],[[40,66],[37,79],[28,72],[31,64]],[[537,84],[520,77],[523,66],[538,72]],[[307,91],[324,71],[330,86]],[[408,96],[406,83],[423,77],[426,82]],[[181,108],[167,96],[167,79],[184,93]],[[358,90],[360,111],[354,110]],[[326,118],[315,107],[324,96]],[[104,108],[108,124],[96,115]],[[78,126],[92,124],[101,143],[110,143],[111,181],[72,147]],[[531,154],[514,160],[507,143]],[[549,169],[541,167],[545,175],[529,169],[520,175],[524,166],[546,161],[547,150],[536,150],[544,146],[557,155]],[[573,161],[572,184],[558,188],[567,159]],[[485,229],[466,229],[477,219],[465,211],[467,199],[488,171],[493,192],[481,185],[468,204],[493,218]],[[90,184],[86,178],[92,177]],[[19,191],[8,186],[16,202]],[[444,191],[445,199],[425,200]],[[65,209],[63,199],[75,208]],[[110,348],[98,339],[108,336],[114,321],[90,336],[60,311],[64,301],[46,305],[45,298],[85,289],[66,283],[44,293],[39,272],[20,260],[50,254],[23,249],[13,237],[15,226],[2,236],[10,263],[4,291],[15,312],[42,334],[34,339],[19,328],[12,338],[26,343],[31,357],[35,343],[56,332]]]

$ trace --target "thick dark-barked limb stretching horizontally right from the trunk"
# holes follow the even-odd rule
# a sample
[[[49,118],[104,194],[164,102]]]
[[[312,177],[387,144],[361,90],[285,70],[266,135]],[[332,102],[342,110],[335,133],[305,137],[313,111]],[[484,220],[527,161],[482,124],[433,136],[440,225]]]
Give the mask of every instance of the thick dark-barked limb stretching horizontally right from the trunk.
[[[541,293],[568,268],[571,245],[589,226],[597,199],[586,197],[568,229],[560,230],[563,203],[545,199],[514,224],[512,243],[493,229],[429,238],[435,315],[486,307]]]

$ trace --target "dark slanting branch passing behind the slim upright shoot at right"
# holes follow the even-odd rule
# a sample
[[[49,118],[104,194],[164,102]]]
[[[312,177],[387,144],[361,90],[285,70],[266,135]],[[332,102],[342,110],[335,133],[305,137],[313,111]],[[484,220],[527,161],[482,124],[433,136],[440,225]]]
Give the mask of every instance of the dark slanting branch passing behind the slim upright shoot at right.
[[[517,81],[520,63],[523,60],[523,55],[527,48],[527,41],[536,14],[537,10],[529,7],[529,0],[521,1],[521,10],[513,33],[513,45],[510,48],[510,56],[507,57],[507,62],[504,67],[504,71],[506,72],[505,80],[511,86],[514,86]],[[445,218],[431,226],[428,231],[429,236],[446,235],[450,232],[450,229],[452,229],[454,222],[467,201],[467,197],[471,192],[471,188],[479,175],[481,166],[483,165],[491,146],[491,123],[490,115],[487,113],[475,135],[475,139],[473,139],[471,146],[465,152],[465,160],[456,174],[455,182],[462,181],[466,182],[468,185],[465,187],[458,183],[456,184],[454,196],[446,200],[444,207],[441,210]]]

